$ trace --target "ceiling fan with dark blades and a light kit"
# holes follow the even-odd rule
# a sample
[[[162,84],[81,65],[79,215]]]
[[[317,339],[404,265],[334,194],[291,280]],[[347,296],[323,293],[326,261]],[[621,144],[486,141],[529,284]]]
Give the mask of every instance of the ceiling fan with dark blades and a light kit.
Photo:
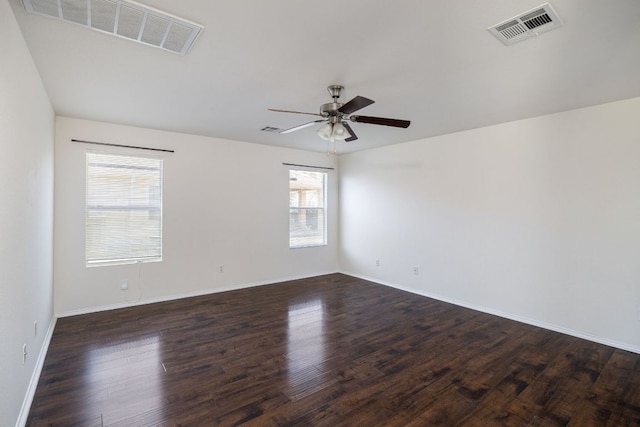
[[[327,104],[322,104],[320,106],[319,113],[305,113],[302,111],[292,111],[292,110],[279,110],[275,108],[269,108],[269,111],[275,111],[278,113],[295,113],[295,114],[307,114],[311,116],[319,116],[320,119],[314,120],[312,122],[304,123],[298,126],[294,126],[289,129],[284,129],[279,133],[291,133],[300,129],[304,129],[309,126],[313,126],[316,123],[324,123],[318,129],[318,135],[326,140],[335,142],[338,140],[344,141],[355,141],[358,139],[351,126],[349,126],[349,122],[354,123],[368,123],[373,125],[384,125],[384,126],[392,126],[399,128],[407,128],[411,124],[408,120],[398,120],[398,119],[388,119],[384,117],[371,117],[371,116],[360,116],[360,115],[352,115],[356,111],[373,104],[375,101],[365,98],[363,96],[356,96],[351,101],[343,104],[338,102],[338,98],[340,98],[340,94],[344,89],[343,86],[340,85],[331,85],[327,88],[329,94],[333,98],[333,102],[329,102]]]

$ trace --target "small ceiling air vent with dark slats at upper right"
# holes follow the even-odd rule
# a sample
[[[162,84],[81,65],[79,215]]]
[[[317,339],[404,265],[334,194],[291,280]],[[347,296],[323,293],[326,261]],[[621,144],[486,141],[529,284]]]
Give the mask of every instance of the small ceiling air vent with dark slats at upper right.
[[[545,3],[494,25],[489,28],[489,32],[510,46],[561,26],[562,21],[558,14],[549,3]]]

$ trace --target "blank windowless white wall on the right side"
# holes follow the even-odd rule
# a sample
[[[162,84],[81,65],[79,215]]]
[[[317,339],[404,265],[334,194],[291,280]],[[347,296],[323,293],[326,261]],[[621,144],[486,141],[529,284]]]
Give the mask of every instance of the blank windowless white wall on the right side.
[[[341,156],[341,270],[640,352],[639,117],[635,98]]]

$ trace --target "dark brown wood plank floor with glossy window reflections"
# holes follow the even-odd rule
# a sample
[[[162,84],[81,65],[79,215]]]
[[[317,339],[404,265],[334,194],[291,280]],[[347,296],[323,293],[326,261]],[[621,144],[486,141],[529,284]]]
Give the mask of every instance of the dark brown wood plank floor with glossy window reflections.
[[[640,355],[335,274],[59,319],[31,426],[640,425]]]

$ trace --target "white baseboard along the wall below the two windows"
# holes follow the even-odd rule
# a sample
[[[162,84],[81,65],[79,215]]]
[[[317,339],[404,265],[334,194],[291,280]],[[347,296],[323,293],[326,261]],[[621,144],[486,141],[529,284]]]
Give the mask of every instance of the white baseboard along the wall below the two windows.
[[[78,310],[68,310],[63,312],[56,312],[56,317],[61,318],[61,317],[79,316],[82,314],[98,313],[101,311],[117,310],[120,308],[135,307],[140,305],[154,304],[158,302],[175,301],[183,298],[199,297],[203,295],[217,294],[220,292],[228,292],[228,291],[236,291],[239,289],[253,288],[256,286],[272,285],[274,283],[288,282],[291,280],[308,279],[310,277],[323,276],[325,274],[333,274],[337,272],[338,271],[327,271],[327,272],[310,273],[308,275],[303,275],[303,276],[281,277],[277,279],[261,280],[257,282],[249,282],[249,283],[224,286],[224,287],[215,288],[215,289],[204,289],[201,291],[187,292],[184,294],[174,294],[174,295],[168,295],[168,296],[157,297],[157,298],[149,298],[149,299],[135,301],[135,302],[123,302],[123,303],[117,303],[117,304],[102,305],[97,307],[82,308]]]

